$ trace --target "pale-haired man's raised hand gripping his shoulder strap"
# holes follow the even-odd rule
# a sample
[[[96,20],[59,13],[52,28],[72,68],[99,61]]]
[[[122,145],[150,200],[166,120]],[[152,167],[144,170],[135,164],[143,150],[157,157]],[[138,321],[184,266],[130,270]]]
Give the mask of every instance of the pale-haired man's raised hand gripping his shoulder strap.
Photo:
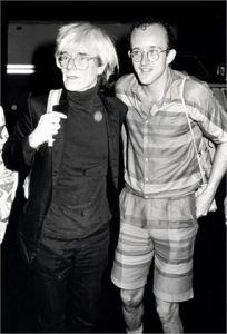
[[[43,114],[36,129],[29,135],[29,145],[37,149],[43,143],[52,140],[52,136],[57,135],[61,127],[61,118],[66,119],[67,116],[57,111]]]

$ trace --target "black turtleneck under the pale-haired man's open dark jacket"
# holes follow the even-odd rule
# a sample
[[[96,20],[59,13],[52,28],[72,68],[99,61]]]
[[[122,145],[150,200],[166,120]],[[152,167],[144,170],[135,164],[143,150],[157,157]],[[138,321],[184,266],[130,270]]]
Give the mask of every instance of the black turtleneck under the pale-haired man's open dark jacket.
[[[80,238],[107,224],[108,140],[97,87],[67,91],[62,160],[45,224],[56,237]]]

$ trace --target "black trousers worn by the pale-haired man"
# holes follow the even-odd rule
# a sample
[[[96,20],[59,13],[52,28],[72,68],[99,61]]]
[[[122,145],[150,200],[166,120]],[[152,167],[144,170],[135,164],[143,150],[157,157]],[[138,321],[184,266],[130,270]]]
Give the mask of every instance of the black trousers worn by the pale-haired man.
[[[109,230],[78,240],[43,236],[33,264],[39,333],[95,333]]]

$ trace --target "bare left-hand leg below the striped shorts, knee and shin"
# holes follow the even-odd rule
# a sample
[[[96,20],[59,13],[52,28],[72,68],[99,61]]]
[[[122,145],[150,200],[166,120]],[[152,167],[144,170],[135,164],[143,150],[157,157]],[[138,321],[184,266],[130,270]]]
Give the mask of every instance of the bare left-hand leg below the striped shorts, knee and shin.
[[[144,287],[138,289],[121,289],[120,296],[122,301],[122,314],[128,328],[127,332],[142,333]]]

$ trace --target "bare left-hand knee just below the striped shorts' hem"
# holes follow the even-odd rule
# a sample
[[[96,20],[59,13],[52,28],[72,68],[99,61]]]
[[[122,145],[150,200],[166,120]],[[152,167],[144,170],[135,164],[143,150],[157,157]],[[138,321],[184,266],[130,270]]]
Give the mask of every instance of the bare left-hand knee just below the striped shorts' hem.
[[[141,304],[144,297],[144,287],[137,289],[121,289],[121,301],[125,307],[134,308]]]

